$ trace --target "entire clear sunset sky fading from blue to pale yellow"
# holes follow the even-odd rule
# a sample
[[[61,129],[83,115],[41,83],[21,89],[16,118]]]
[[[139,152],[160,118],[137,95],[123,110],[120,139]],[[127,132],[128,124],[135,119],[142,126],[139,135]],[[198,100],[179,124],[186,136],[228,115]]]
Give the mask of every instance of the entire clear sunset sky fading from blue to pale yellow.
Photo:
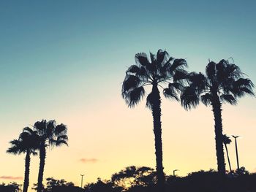
[[[6,153],[23,127],[55,119],[68,126],[69,147],[49,149],[44,177],[80,185],[126,166],[155,166],[146,101],[121,98],[136,53],[167,50],[204,72],[208,59],[232,57],[256,83],[255,1],[0,1],[0,183],[23,183],[25,155]],[[240,135],[241,166],[256,172],[256,99],[225,104],[227,135]],[[217,169],[214,118],[200,104],[185,111],[162,98],[165,172]],[[229,146],[236,169],[235,145]],[[31,159],[30,183],[39,158]],[[30,186],[31,186],[30,185]]]

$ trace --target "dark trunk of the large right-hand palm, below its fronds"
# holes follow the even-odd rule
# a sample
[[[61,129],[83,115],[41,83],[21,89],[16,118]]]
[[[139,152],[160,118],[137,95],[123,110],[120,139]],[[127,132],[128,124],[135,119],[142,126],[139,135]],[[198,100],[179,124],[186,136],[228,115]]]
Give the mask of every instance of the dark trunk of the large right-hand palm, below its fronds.
[[[213,101],[211,103],[212,110],[214,112],[214,129],[215,129],[215,142],[216,142],[216,154],[218,172],[221,175],[225,175],[225,158],[222,142],[222,104],[219,101],[217,92],[213,93]]]

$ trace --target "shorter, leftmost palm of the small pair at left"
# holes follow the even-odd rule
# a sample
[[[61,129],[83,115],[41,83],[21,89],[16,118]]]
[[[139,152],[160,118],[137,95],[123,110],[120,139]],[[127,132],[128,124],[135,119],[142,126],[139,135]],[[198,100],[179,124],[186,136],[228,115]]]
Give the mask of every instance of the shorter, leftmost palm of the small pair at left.
[[[10,142],[12,146],[7,150],[7,153],[12,153],[14,155],[26,153],[23,192],[27,192],[29,188],[30,155],[37,155],[36,150],[39,147],[37,141],[36,131],[32,131],[30,128],[24,128],[19,138]]]

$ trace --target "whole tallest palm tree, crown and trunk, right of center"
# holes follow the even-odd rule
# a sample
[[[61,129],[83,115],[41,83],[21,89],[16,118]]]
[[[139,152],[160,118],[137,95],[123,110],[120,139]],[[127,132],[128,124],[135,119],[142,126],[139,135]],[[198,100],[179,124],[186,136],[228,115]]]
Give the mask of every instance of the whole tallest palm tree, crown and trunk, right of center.
[[[128,107],[135,107],[145,96],[146,85],[151,85],[151,93],[146,98],[146,107],[153,115],[155,153],[157,161],[157,183],[163,186],[165,174],[162,166],[162,128],[161,128],[161,97],[159,88],[163,89],[165,97],[178,99],[178,92],[183,87],[182,79],[186,77],[187,72],[184,66],[187,62],[182,59],[169,57],[168,53],[158,50],[157,55],[150,53],[150,59],[146,53],[135,55],[136,65],[127,69],[126,76],[122,85],[122,96],[127,102]],[[167,85],[163,88],[162,85]]]

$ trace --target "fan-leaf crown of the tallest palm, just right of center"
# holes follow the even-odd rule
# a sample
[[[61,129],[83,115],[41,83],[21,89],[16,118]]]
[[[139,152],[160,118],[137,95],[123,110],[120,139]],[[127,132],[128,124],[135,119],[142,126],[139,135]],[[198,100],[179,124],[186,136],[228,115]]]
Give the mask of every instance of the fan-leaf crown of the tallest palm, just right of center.
[[[163,93],[167,98],[178,99],[178,91],[182,88],[181,79],[186,77],[184,66],[187,62],[182,59],[169,57],[168,53],[158,50],[157,55],[150,53],[151,62],[148,61],[146,53],[135,55],[136,65],[132,65],[126,72],[122,86],[122,96],[129,107],[134,107],[145,96],[146,85],[157,85],[168,83]],[[152,107],[154,94],[147,96],[147,107]]]

